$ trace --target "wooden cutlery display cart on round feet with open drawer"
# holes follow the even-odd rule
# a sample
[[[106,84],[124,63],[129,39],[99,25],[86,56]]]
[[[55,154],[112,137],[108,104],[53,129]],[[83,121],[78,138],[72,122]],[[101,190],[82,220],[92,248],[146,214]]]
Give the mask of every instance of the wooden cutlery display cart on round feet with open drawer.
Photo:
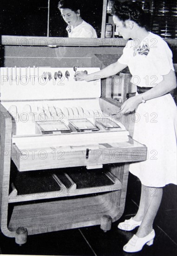
[[[31,106],[31,113],[42,108],[46,116],[51,106],[55,111],[61,109],[66,123],[74,118],[94,122],[95,114],[112,118],[110,113],[118,111],[118,104],[100,97],[101,81],[72,80],[72,68],[0,69],[4,76],[0,104],[2,233],[23,244],[27,235],[92,225],[111,229],[111,222],[124,212],[129,162],[146,159],[146,147],[125,129],[130,117],[125,120],[122,116],[121,122],[114,119],[119,130],[99,127],[81,132],[67,123],[72,132],[45,132],[34,120],[20,120],[30,116],[24,107]],[[63,84],[54,78],[59,69],[70,73]],[[97,70],[87,68],[88,72]],[[45,78],[48,73],[44,72],[51,72],[53,78]],[[30,81],[29,74],[37,74],[37,78]],[[22,76],[29,78],[28,83],[17,84]],[[54,85],[56,81],[59,84]],[[16,106],[16,114],[12,106]]]

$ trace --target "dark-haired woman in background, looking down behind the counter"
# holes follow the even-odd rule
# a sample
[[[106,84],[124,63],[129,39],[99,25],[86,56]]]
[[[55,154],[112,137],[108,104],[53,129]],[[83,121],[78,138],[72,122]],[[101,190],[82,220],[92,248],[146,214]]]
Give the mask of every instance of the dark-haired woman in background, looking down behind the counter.
[[[80,17],[77,1],[61,0],[58,8],[63,19],[68,24],[66,27],[68,37],[97,38],[95,29]]]

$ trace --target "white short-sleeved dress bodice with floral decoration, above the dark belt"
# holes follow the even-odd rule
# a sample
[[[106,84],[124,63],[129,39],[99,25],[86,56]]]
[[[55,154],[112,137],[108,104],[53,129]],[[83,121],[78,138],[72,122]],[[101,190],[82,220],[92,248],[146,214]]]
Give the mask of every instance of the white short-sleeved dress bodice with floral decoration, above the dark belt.
[[[151,32],[141,42],[129,40],[118,62],[129,67],[131,82],[139,87],[154,87],[163,80],[163,75],[174,70],[167,43]]]

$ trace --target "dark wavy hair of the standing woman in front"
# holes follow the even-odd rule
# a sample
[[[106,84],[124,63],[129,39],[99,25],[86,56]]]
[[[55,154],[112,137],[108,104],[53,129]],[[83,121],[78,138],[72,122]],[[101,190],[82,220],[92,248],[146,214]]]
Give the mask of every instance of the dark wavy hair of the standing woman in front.
[[[132,20],[135,21],[140,27],[146,27],[146,15],[138,2],[114,1],[111,10],[112,15],[116,15],[120,20]]]

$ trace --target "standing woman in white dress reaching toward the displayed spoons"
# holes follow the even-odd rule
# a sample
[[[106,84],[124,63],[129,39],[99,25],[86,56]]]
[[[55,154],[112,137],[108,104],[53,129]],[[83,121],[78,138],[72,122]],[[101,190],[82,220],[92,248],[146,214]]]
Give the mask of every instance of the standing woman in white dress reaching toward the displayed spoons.
[[[137,85],[137,94],[123,103],[121,112],[136,110],[133,138],[147,146],[148,154],[146,161],[130,165],[130,172],[142,184],[138,212],[118,224],[119,229],[126,231],[139,227],[123,248],[137,252],[144,244],[153,244],[153,222],[163,187],[169,183],[177,185],[177,107],[169,93],[177,87],[177,81],[171,50],[161,37],[146,30],[141,7],[136,2],[115,1],[112,14],[119,34],[132,40],[128,40],[117,62],[97,73],[78,72],[76,80],[109,77],[128,66],[131,82]]]

